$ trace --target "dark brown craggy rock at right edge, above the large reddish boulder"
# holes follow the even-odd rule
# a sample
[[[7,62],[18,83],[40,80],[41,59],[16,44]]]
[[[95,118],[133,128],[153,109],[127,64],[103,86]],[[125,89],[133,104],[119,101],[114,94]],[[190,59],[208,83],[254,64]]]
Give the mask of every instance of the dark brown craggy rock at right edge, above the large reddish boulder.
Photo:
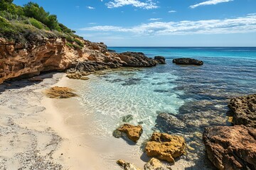
[[[233,113],[235,125],[256,128],[256,94],[232,98],[228,107]]]

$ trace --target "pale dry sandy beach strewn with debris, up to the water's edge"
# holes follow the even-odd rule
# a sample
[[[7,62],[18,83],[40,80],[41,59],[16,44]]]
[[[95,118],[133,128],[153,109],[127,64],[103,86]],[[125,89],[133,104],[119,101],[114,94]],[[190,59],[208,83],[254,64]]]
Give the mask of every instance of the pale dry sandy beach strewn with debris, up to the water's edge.
[[[92,152],[65,126],[53,106],[55,99],[42,93],[63,75],[44,74],[40,83],[21,80],[0,85],[0,169],[98,169],[90,167],[97,165],[90,159]]]

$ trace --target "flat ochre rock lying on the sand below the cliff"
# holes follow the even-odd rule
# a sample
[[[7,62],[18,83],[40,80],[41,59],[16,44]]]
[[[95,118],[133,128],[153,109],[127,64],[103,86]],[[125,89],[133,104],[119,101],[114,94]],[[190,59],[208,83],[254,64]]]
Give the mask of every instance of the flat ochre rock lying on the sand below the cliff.
[[[73,89],[68,87],[59,87],[54,86],[45,91],[46,96],[49,98],[70,98],[78,96],[77,94],[73,93]]]

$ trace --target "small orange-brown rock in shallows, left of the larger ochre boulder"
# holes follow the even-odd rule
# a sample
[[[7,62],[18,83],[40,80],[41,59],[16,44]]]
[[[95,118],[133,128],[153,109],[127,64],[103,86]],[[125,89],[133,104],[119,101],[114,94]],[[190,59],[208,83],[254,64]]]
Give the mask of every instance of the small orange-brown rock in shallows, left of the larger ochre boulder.
[[[133,142],[137,142],[139,140],[139,137],[142,135],[142,125],[129,125],[124,124],[120,128],[117,128],[117,131],[124,132],[127,137],[132,140]],[[121,136],[118,132],[115,132],[117,135],[115,137]]]

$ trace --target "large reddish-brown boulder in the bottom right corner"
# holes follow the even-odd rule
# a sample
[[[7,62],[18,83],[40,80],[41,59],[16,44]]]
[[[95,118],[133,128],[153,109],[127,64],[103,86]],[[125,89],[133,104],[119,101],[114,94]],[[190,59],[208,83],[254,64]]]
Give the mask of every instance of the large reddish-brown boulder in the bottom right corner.
[[[208,159],[218,169],[256,169],[256,129],[216,126],[203,133]]]

